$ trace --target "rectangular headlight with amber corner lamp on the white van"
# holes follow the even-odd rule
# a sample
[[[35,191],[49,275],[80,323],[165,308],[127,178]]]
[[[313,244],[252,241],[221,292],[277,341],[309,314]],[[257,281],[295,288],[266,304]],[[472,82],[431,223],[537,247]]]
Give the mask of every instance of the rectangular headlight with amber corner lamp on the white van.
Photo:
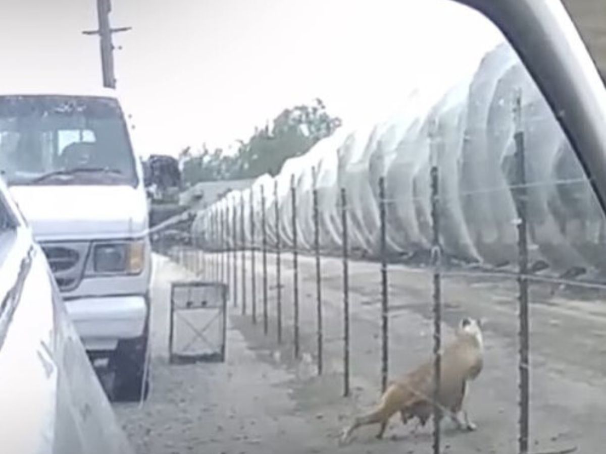
[[[139,274],[145,266],[145,242],[95,243],[93,272],[99,274]]]

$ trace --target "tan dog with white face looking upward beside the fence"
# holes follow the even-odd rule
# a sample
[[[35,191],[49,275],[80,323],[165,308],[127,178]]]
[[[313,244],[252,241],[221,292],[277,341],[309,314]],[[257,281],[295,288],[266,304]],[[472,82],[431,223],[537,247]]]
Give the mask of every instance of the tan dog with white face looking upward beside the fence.
[[[456,330],[456,338],[442,354],[441,383],[438,395],[440,417],[447,413],[459,429],[474,430],[464,408],[467,382],[474,380],[482,371],[484,343],[481,322],[472,318],[463,318]],[[426,361],[401,380],[390,383],[381,396],[379,407],[368,415],[359,416],[344,430],[341,442],[350,438],[351,433],[360,426],[381,424],[377,438],[382,438],[391,416],[400,412],[402,423],[409,419],[419,419],[424,426],[433,413],[434,360]],[[462,413],[461,420],[459,413]]]

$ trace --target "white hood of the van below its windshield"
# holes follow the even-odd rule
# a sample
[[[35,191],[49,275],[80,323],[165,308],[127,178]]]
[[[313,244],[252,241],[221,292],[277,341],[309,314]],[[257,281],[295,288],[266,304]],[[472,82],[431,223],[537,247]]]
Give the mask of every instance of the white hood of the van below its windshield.
[[[136,237],[147,231],[145,192],[132,186],[12,186],[38,241]]]

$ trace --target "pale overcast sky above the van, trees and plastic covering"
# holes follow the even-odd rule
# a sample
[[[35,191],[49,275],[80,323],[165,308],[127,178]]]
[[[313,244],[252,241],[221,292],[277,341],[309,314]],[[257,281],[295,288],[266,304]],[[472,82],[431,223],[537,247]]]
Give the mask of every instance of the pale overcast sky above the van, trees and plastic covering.
[[[499,34],[448,0],[113,0],[118,88],[139,153],[247,139],[321,97],[346,125],[473,70]],[[0,84],[100,85],[95,0],[2,0]]]

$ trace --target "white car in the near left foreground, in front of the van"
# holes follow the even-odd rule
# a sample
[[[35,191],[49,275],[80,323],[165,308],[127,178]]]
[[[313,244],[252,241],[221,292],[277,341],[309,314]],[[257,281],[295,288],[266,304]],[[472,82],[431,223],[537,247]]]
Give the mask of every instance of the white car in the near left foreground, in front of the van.
[[[52,272],[0,179],[3,453],[130,454]]]

